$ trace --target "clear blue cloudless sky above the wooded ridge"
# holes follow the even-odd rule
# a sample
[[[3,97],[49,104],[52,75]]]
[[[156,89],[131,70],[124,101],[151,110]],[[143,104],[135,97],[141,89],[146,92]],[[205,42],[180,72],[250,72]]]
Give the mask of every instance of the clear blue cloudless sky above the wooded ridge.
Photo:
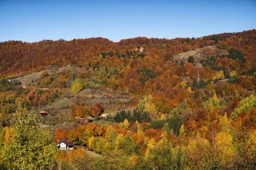
[[[0,42],[172,39],[256,28],[256,0],[36,1],[0,0]]]

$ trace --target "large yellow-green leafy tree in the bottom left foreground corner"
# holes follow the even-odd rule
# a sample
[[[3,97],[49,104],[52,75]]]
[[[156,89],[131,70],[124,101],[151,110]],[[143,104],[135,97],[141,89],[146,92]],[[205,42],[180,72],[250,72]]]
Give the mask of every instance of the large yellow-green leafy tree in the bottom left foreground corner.
[[[51,135],[39,128],[35,114],[20,107],[13,117],[13,138],[1,148],[6,169],[48,170],[56,146]]]

